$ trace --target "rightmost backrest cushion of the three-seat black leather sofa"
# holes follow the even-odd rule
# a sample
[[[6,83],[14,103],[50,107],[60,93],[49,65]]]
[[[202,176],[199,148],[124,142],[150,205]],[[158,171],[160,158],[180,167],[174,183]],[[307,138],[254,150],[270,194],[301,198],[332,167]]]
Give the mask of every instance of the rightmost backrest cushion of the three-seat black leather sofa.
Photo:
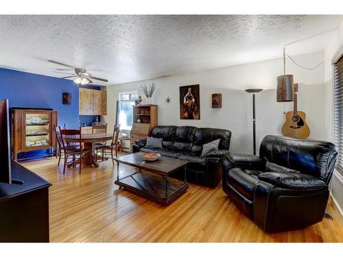
[[[219,149],[228,150],[230,147],[231,132],[216,128],[201,127],[196,130],[193,136],[191,153],[201,155],[202,145],[220,138]]]

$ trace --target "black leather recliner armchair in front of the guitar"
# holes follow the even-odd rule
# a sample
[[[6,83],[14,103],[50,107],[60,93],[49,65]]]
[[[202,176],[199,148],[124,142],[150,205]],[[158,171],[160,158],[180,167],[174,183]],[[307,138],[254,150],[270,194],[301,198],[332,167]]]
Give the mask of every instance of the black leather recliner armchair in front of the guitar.
[[[222,186],[231,201],[265,232],[322,221],[338,155],[335,145],[265,136],[259,154],[226,156]]]

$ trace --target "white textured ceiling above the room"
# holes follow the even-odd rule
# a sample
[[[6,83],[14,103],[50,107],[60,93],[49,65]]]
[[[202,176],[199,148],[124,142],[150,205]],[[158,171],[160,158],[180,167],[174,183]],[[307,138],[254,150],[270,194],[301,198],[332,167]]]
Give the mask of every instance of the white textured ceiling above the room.
[[[342,15],[0,16],[0,67],[64,77],[85,68],[113,85],[279,58],[288,42],[334,29]],[[287,47],[322,51],[330,33]]]

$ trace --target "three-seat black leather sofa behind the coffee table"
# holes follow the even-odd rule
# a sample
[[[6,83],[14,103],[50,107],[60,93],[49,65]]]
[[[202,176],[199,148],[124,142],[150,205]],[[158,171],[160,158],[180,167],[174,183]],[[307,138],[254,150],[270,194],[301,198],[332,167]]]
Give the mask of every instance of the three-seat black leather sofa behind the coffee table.
[[[145,147],[146,140],[136,140],[132,151],[156,152],[162,156],[188,160],[187,181],[215,188],[222,180],[222,162],[230,147],[231,132],[216,128],[191,126],[156,126],[151,132],[154,138],[163,138],[163,149]],[[201,156],[202,145],[220,138],[219,150]],[[184,173],[176,172],[182,178]]]

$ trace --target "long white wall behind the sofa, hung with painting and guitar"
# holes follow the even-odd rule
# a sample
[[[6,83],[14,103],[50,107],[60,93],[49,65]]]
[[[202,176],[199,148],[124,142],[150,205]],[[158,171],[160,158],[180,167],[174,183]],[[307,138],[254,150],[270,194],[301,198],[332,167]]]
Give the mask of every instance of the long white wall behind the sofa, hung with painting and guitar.
[[[304,66],[321,62],[324,53],[296,56],[294,59]],[[307,113],[311,129],[310,138],[324,139],[324,67],[315,71],[300,69],[287,60],[286,73],[294,75],[299,84],[298,110]],[[281,59],[255,62],[223,69],[172,75],[147,80],[156,82],[154,103],[158,105],[159,125],[194,125],[218,127],[233,132],[230,151],[252,153],[252,95],[246,88],[265,88],[257,94],[257,148],[266,134],[281,134],[285,110],[292,110],[292,103],[276,103],[276,76],[283,74]],[[115,123],[115,103],[119,93],[138,90],[141,82],[109,86],[108,115],[106,122]],[[181,120],[179,117],[179,86],[200,84],[200,121]],[[211,94],[222,93],[222,108],[211,108]],[[171,104],[165,98],[171,97]]]

